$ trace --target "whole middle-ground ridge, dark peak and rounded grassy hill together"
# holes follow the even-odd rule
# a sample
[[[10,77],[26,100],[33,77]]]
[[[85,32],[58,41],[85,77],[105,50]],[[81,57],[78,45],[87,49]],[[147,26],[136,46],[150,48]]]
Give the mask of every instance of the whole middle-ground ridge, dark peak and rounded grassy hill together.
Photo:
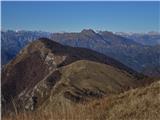
[[[85,69],[81,71],[81,67]],[[76,72],[77,70],[79,72]],[[109,72],[110,70],[112,72]],[[121,78],[121,83],[118,82],[119,78],[113,75],[114,72]],[[89,79],[90,77],[91,79]],[[102,88],[105,88],[104,92],[109,92],[110,89],[110,93],[114,94],[113,91],[122,92],[140,85],[138,79],[141,77],[144,76],[93,50],[64,46],[50,39],[41,38],[26,46],[2,70],[2,108],[11,107],[10,102],[14,99],[19,103],[20,108],[23,106],[21,103],[25,103],[23,108],[34,110],[37,101],[38,104],[39,102],[42,104],[48,98],[52,88],[56,86],[57,89],[71,90],[71,93],[66,91],[60,94],[61,96],[65,96],[71,101],[72,99],[73,101],[83,101],[87,96],[103,96]],[[64,78],[70,81],[69,87],[64,84]],[[90,81],[92,79],[95,82]],[[62,82],[60,86],[59,82]],[[88,86],[85,86],[84,83],[88,83]],[[104,83],[110,86],[109,89],[107,85],[102,87]],[[81,84],[82,87],[78,88],[75,86],[76,84],[79,86]],[[92,89],[89,89],[89,86]]]

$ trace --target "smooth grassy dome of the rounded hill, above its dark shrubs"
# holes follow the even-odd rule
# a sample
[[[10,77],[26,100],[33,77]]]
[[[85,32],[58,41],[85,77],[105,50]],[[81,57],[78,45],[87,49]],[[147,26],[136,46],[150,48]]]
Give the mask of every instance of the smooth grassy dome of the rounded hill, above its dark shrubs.
[[[61,81],[80,90],[91,89],[113,94],[137,86],[136,78],[126,71],[87,60],[74,62],[60,71]]]

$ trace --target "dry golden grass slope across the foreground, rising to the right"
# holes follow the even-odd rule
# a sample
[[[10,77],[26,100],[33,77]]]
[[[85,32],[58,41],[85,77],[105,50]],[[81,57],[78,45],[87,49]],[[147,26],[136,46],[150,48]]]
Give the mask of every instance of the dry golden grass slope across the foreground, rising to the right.
[[[160,81],[87,104],[8,115],[3,120],[160,120]]]

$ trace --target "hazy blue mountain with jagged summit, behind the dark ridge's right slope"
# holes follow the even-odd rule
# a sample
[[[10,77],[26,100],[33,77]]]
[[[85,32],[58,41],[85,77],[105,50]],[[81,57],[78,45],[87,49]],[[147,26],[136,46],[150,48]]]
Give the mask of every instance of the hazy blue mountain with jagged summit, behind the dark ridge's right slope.
[[[154,69],[160,66],[159,46],[145,46],[112,32],[96,33],[91,29],[82,30],[80,33],[54,33],[52,39],[65,45],[96,50],[138,72],[147,70],[145,73],[153,76],[160,73]],[[151,67],[152,71],[148,70]]]

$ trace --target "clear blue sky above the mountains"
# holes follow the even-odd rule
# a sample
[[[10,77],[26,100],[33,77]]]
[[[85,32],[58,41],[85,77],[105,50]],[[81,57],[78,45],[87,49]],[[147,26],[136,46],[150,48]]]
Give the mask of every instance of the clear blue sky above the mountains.
[[[160,2],[2,2],[2,29],[148,32],[160,29]]]

